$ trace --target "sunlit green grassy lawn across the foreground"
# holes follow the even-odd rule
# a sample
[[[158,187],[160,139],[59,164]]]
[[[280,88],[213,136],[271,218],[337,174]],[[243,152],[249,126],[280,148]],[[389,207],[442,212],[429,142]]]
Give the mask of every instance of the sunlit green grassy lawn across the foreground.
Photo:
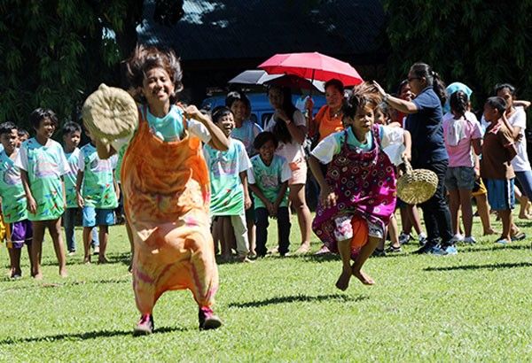
[[[532,236],[528,221],[518,224]],[[276,226],[270,228],[275,236]],[[480,236],[477,218],[474,232]],[[123,226],[111,228],[111,264],[82,265],[78,252],[68,259],[65,280],[48,238],[43,282],[28,277],[26,255],[21,280],[0,279],[0,360],[528,360],[530,239],[507,246],[495,239],[478,237],[449,257],[412,255],[417,246],[405,246],[367,262],[375,286],[352,280],[345,293],[334,288],[340,261],[333,256],[222,265],[216,313],[223,328],[200,332],[191,293],[171,291],[155,307],[156,333],[134,338],[138,313]],[[312,247],[319,248],[316,237]],[[0,266],[8,266],[4,246]]]

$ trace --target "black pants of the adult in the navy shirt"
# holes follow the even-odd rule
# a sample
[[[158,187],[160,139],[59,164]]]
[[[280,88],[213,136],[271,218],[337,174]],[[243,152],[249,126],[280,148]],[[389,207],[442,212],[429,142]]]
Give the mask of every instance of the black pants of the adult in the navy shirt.
[[[447,171],[447,160],[436,161],[419,168],[432,170],[438,175],[438,187],[434,196],[428,199],[425,203],[419,205],[423,211],[423,219],[426,227],[426,241],[429,245],[438,243],[439,238],[442,238],[442,245],[449,245],[452,239],[452,231],[450,228],[450,211],[449,205],[445,200],[445,189],[443,180],[445,172]]]

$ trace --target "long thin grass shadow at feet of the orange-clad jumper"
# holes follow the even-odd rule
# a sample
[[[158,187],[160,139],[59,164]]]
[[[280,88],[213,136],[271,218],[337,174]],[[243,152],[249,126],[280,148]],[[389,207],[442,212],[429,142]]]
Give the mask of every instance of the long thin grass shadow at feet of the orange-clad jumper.
[[[155,328],[153,334],[165,334],[172,333],[175,331],[187,331],[189,328],[182,327],[162,327]],[[23,343],[35,343],[35,342],[55,342],[61,340],[89,340],[89,339],[98,339],[98,338],[108,338],[113,336],[133,336],[132,330],[99,330],[99,331],[89,331],[87,333],[73,333],[73,334],[58,334],[55,336],[36,336],[36,337],[27,337],[27,338],[7,338],[0,340],[0,345],[12,345],[12,344],[23,344]],[[140,337],[139,337],[140,338]]]

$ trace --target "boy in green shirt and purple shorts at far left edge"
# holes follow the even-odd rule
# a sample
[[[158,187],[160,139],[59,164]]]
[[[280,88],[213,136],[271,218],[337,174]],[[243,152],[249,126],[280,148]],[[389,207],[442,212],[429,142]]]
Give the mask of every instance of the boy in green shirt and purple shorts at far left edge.
[[[4,151],[0,152],[0,197],[2,214],[6,227],[7,248],[10,259],[10,276],[20,278],[20,251],[27,245],[27,254],[31,263],[31,242],[33,229],[27,220],[26,193],[20,179],[20,169],[15,166],[14,158],[19,153],[16,147],[17,127],[12,122],[0,124],[0,143]]]

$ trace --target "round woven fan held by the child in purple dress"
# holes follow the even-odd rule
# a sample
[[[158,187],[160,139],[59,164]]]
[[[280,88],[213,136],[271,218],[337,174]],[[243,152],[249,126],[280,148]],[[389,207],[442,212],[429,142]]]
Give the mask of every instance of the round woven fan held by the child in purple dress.
[[[436,191],[438,176],[431,170],[413,170],[411,163],[403,159],[406,173],[397,180],[397,197],[409,205],[426,202]]]

